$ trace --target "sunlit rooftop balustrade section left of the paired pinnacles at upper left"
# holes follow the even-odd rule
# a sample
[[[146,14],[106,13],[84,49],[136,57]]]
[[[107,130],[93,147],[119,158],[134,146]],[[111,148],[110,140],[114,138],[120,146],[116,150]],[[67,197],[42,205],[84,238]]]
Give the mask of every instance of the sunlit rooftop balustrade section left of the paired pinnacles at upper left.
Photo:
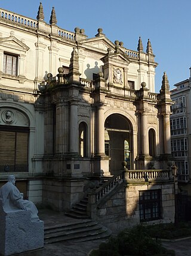
[[[0,9],[0,18],[19,24],[19,25],[27,26],[33,29],[36,28],[36,23],[37,23],[36,20],[29,19],[24,16],[20,16],[19,14],[16,14],[16,13],[11,13],[10,11],[7,11],[7,10]]]

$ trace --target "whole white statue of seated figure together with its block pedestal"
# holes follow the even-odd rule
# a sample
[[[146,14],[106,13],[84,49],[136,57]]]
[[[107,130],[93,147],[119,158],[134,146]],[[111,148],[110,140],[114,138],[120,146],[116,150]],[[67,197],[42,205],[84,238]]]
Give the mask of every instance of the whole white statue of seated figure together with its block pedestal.
[[[0,255],[11,255],[44,246],[44,222],[31,201],[23,200],[14,175],[0,188]]]

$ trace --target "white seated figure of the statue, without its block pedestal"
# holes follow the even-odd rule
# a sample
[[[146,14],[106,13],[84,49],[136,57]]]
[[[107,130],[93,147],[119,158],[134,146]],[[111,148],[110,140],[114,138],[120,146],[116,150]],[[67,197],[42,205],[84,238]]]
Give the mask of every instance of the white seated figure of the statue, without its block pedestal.
[[[35,204],[33,204],[32,201],[23,200],[15,183],[16,177],[14,175],[9,175],[8,182],[0,188],[0,199],[2,199],[4,210],[30,210],[31,219],[33,219],[33,221],[39,220],[38,210]]]

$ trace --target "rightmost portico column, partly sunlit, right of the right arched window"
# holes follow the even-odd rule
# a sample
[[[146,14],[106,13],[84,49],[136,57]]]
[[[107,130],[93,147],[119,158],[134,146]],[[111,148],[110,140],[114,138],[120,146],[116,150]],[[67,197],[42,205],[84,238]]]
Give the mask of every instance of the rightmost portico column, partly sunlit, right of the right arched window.
[[[164,147],[165,153],[171,154],[171,132],[170,132],[170,115],[164,114]]]

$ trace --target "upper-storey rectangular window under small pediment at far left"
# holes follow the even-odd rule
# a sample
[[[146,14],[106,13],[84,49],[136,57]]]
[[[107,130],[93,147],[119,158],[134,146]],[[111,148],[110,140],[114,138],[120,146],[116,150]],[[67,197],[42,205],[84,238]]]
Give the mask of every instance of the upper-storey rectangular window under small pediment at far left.
[[[17,76],[17,59],[16,55],[4,53],[3,72],[11,76]]]

